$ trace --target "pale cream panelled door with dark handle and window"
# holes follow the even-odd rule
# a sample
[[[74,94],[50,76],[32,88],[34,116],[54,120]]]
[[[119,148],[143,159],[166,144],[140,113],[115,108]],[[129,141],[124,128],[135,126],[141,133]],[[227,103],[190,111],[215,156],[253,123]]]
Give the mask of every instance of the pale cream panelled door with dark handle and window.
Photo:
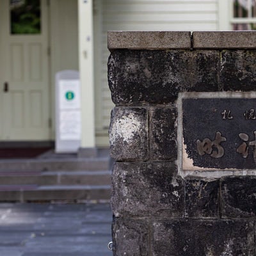
[[[40,17],[39,19],[34,17],[35,22],[39,24],[38,31],[28,32],[23,29],[24,33],[17,33],[12,28],[11,9],[13,4],[27,2],[29,1],[0,1],[0,140],[2,141],[50,139],[47,0],[39,1],[40,9],[37,11]]]

